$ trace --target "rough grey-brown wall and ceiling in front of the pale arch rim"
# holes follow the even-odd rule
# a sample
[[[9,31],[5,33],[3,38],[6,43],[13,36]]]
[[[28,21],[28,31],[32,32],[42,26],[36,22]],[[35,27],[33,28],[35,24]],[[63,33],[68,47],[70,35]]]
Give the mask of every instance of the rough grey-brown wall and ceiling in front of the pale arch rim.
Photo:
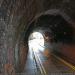
[[[75,20],[75,0],[0,0],[0,68],[14,64],[22,30],[37,14],[50,9],[59,9]]]

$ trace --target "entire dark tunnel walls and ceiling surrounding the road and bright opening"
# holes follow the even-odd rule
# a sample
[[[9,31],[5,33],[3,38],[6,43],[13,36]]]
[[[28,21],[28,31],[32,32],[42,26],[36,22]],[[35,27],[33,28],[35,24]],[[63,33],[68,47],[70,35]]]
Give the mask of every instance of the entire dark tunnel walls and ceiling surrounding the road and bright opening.
[[[0,0],[0,73],[23,72],[33,32],[75,67],[74,0]]]

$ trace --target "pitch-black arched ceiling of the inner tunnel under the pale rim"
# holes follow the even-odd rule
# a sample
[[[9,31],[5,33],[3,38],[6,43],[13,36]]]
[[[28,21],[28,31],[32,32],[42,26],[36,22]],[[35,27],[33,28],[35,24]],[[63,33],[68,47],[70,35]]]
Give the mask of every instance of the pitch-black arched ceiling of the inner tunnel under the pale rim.
[[[51,16],[53,17],[53,19],[52,19]],[[60,20],[60,22],[59,22],[59,20]],[[67,38],[69,38],[69,40],[72,39],[72,37],[70,37],[70,36],[73,36],[73,35],[71,35],[72,34],[72,27],[60,15],[56,15],[56,16],[53,16],[53,15],[42,15],[42,16],[40,16],[38,18],[38,20],[36,22],[36,25],[35,25],[35,22],[36,21],[34,21],[30,25],[29,29],[27,30],[26,38],[29,37],[30,33],[33,32],[33,30],[35,28],[38,28],[38,27],[40,27],[40,28],[41,27],[49,27],[52,30],[53,34],[57,34],[56,38],[59,38],[60,41],[62,41],[61,39],[63,39],[65,35],[68,35]],[[64,23],[65,23],[65,25],[64,25]],[[51,25],[52,25],[52,28],[51,28]],[[62,25],[63,28],[61,27],[61,25]],[[66,28],[67,29],[69,28],[69,30],[66,31]],[[60,29],[60,30],[58,31],[58,29]],[[61,32],[62,35],[60,35],[60,32]],[[67,34],[65,34],[64,32],[67,33]],[[58,35],[60,35],[60,36],[58,36]],[[65,38],[66,38],[66,36],[65,36]],[[67,38],[66,38],[66,40],[67,40]],[[65,41],[65,40],[63,40],[63,41]]]

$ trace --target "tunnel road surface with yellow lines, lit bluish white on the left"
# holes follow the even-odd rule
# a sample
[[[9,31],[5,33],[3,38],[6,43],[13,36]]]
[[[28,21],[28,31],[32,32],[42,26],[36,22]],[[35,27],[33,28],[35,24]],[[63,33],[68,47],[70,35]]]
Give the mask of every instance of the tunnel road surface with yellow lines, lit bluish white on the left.
[[[53,55],[49,43],[45,43],[47,47],[45,45],[42,47],[37,43],[39,47],[36,48],[35,40],[29,40],[29,52],[24,69],[26,75],[50,75],[51,73],[58,73],[57,75],[67,73],[69,75],[73,73],[70,67],[66,66]]]

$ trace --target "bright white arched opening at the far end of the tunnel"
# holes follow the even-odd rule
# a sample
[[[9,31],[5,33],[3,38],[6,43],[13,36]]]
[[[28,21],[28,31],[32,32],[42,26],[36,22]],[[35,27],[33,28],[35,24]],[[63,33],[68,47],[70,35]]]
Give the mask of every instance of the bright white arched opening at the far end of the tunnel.
[[[44,37],[40,32],[33,32],[30,34],[28,40],[29,49],[38,52],[38,50],[44,50]]]

